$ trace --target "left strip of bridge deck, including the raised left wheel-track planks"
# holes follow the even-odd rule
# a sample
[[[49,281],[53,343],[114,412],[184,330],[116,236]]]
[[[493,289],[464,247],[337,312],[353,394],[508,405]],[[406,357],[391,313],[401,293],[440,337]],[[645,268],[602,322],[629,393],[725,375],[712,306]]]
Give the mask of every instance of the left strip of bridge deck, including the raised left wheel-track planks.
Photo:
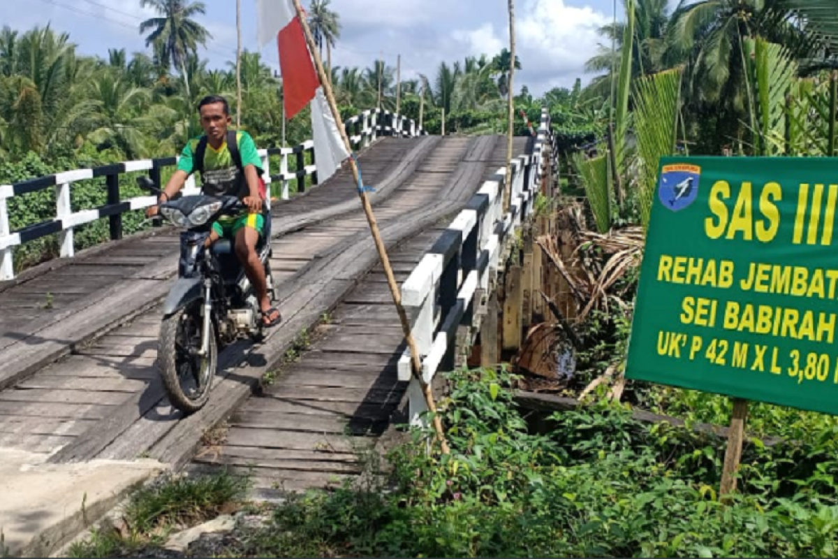
[[[438,140],[386,137],[361,153],[366,180],[379,187],[370,197],[373,204],[387,199]],[[339,170],[306,194],[275,203],[272,234],[282,236],[359,206],[351,173]],[[0,283],[0,390],[162,301],[177,275],[178,234],[165,228],[92,247]],[[277,265],[293,272],[281,261]]]

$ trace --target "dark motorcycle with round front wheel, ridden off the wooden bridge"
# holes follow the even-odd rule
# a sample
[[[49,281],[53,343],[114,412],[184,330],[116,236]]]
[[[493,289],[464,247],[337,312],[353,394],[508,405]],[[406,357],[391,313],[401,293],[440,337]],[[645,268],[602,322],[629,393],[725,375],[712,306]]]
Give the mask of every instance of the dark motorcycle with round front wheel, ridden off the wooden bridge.
[[[137,178],[140,188],[159,195],[148,177]],[[265,268],[268,296],[275,301],[270,258],[270,200],[265,200],[265,234],[256,245]],[[256,292],[235,255],[235,242],[204,241],[221,215],[238,215],[246,206],[235,196],[183,196],[160,204],[153,220],[165,218],[186,230],[180,233],[178,279],[163,303],[158,339],[158,364],[169,402],[184,413],[201,409],[209,400],[218,354],[238,339],[264,341]],[[162,218],[160,217],[162,216]],[[185,384],[184,384],[185,382]]]

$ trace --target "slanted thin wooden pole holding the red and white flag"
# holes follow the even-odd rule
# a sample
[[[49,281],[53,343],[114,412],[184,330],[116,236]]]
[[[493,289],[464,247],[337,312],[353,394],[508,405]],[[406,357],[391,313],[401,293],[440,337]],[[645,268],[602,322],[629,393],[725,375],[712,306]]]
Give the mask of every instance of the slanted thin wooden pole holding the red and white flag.
[[[334,94],[332,92],[332,85],[329,80],[326,79],[326,72],[323,70],[323,62],[320,60],[320,57],[317,52],[316,45],[314,44],[314,39],[312,37],[311,29],[308,28],[308,21],[303,14],[303,7],[300,5],[300,0],[293,0],[294,8],[297,9],[297,17],[300,18],[300,23],[303,26],[303,34],[306,36],[306,43],[308,43],[308,50],[311,52],[312,57],[314,59],[314,66],[317,69],[318,77],[320,78],[320,84],[323,86],[323,93],[326,94],[326,99],[328,100],[328,106],[332,110],[332,115],[334,116],[335,123],[338,126],[338,131],[340,132],[340,137],[344,140],[344,146],[346,147],[346,151],[349,153],[352,152],[352,145],[349,143],[349,137],[346,136],[346,130],[344,130],[344,123],[340,118],[340,111],[338,111],[337,103],[334,101]],[[355,179],[355,183],[358,182],[358,167],[355,165],[354,158],[349,158],[349,166],[352,168],[352,174]],[[404,307],[401,306],[401,292],[399,291],[399,287],[396,285],[396,277],[393,276],[393,269],[390,266],[390,258],[387,256],[387,249],[384,245],[384,241],[381,240],[380,231],[378,230],[378,223],[375,221],[375,215],[372,212],[372,206],[370,205],[370,199],[367,198],[366,193],[361,190],[358,193],[361,199],[361,205],[364,206],[364,213],[366,214],[367,221],[370,224],[370,230],[372,231],[372,236],[375,241],[375,248],[378,250],[378,256],[381,260],[381,267],[384,268],[384,272],[387,276],[387,284],[390,286],[390,292],[393,296],[393,303],[396,305],[396,312],[399,313],[399,319],[401,320],[401,329],[405,333],[405,340],[407,342],[407,347],[411,351],[411,365],[413,369],[413,375],[416,377],[416,380],[422,385],[422,392],[425,395],[425,401],[427,403],[427,408],[433,414],[433,425],[437,431],[437,439],[439,440],[440,447],[442,448],[442,453],[447,454],[449,453],[448,443],[445,440],[445,432],[442,429],[442,419],[437,415],[437,405],[433,401],[433,393],[431,391],[431,386],[428,385],[422,379],[422,361],[419,359],[419,350],[416,349],[416,342],[413,340],[413,334],[411,334],[411,325],[407,320],[407,314],[405,313]]]

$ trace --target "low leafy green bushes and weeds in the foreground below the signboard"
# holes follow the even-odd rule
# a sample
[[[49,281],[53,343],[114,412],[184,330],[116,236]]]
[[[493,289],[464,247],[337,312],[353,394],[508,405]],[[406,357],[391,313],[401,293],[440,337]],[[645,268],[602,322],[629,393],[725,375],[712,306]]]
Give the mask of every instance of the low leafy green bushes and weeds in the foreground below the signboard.
[[[799,438],[773,447],[751,439],[742,493],[725,506],[716,494],[721,438],[637,422],[626,406],[608,403],[553,414],[543,420],[546,434],[535,434],[513,400],[513,380],[503,371],[453,372],[452,392],[440,402],[449,456],[427,456],[422,437],[432,433],[413,432],[392,451],[382,481],[291,497],[263,527],[237,529],[220,554],[792,557],[838,550],[835,422],[801,430],[791,411],[775,408],[774,434]],[[670,402],[666,410],[678,411]],[[720,402],[690,401],[696,409],[680,415],[721,418],[713,416]],[[184,510],[196,519],[211,507],[159,513],[191,499],[195,487],[158,489],[130,514],[150,519],[146,531]],[[211,493],[220,495],[215,504],[234,495]],[[101,542],[93,540],[75,556],[114,549],[96,551]]]

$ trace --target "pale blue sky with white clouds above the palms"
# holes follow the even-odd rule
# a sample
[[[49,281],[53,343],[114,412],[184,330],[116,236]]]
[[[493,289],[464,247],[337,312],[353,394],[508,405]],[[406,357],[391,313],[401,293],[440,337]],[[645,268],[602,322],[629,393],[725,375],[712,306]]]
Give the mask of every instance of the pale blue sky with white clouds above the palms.
[[[206,15],[198,18],[212,34],[201,55],[209,66],[235,60],[235,0],[204,0]],[[303,0],[308,6],[308,0]],[[494,56],[508,44],[506,0],[333,0],[341,34],[332,51],[333,65],[367,67],[383,57],[401,75],[436,75],[468,55]],[[618,2],[617,18],[623,18]],[[139,34],[142,19],[156,15],[139,0],[0,0],[0,22],[18,30],[50,24],[70,34],[82,54],[106,55],[108,48],[129,53],[147,50]],[[256,0],[241,0],[242,47],[256,50]],[[577,77],[587,83],[584,64],[603,39],[596,30],[613,19],[613,0],[516,0],[516,54],[522,70],[515,90],[526,85],[541,95],[552,87],[570,87]],[[260,50],[278,70],[276,47]]]

